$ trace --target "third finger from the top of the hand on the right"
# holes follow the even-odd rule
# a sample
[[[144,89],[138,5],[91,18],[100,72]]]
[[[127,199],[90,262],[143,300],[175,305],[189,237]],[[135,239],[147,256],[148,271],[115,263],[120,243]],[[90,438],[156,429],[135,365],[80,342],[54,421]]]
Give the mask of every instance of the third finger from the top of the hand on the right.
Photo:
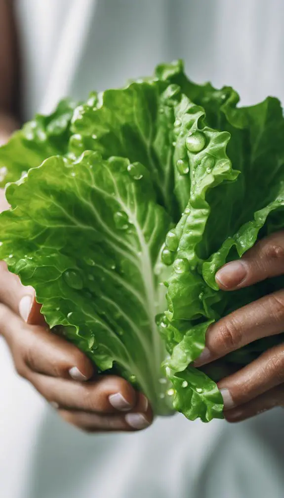
[[[283,382],[284,345],[281,344],[218,383],[224,410],[248,403]]]

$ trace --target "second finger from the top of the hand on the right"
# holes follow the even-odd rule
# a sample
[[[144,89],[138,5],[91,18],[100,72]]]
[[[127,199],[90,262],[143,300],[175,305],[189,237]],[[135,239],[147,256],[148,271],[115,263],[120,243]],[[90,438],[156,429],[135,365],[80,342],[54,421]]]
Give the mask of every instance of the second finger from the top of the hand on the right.
[[[284,329],[284,291],[274,292],[247,304],[212,324],[206,334],[206,348],[194,362],[205,365],[246,344],[280,334]]]

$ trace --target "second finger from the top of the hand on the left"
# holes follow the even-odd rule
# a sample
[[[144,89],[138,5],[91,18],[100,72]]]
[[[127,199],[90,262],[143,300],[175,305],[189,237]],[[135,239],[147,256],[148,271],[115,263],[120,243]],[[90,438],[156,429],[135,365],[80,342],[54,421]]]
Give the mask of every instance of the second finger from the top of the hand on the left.
[[[4,305],[0,305],[0,331],[21,371],[80,381],[93,376],[92,362],[73,344],[43,327],[27,325]]]

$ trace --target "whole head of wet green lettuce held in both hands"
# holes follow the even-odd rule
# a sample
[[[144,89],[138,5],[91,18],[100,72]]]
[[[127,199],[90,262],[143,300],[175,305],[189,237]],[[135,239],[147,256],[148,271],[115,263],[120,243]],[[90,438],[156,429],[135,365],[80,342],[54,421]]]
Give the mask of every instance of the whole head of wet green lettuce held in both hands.
[[[176,61],[73,108],[37,116],[0,148],[2,185],[16,182],[0,258],[36,289],[52,328],[156,413],[222,418],[225,370],[192,364],[210,324],[284,285],[215,283],[225,262],[284,228],[281,105],[240,107],[232,88],[197,85]],[[224,360],[245,365],[282,340]]]

